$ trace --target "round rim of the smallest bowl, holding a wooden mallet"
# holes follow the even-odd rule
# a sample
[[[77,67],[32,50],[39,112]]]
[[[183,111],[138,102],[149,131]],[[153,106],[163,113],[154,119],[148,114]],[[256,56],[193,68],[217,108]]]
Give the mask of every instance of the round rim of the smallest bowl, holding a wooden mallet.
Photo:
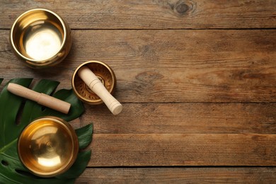
[[[84,62],[84,63],[80,64],[79,67],[77,67],[77,68],[75,69],[74,74],[73,74],[72,79],[71,79],[71,85],[72,85],[72,88],[73,88],[74,93],[76,93],[76,96],[77,96],[80,100],[84,101],[85,103],[88,103],[88,104],[91,104],[91,105],[98,105],[98,104],[100,104],[100,103],[103,103],[103,100],[102,100],[102,99],[98,99],[98,100],[88,100],[87,98],[84,98],[83,96],[81,96],[81,94],[78,93],[78,91],[76,91],[76,86],[75,86],[75,84],[74,84],[74,79],[76,78],[76,75],[77,75],[77,72],[79,71],[79,69],[80,69],[81,67],[83,67],[84,65],[90,64],[90,63],[98,63],[98,64],[103,65],[106,69],[108,69],[108,71],[109,71],[110,74],[111,74],[112,81],[113,81],[113,84],[112,84],[112,86],[111,86],[111,88],[110,88],[111,91],[108,91],[108,92],[110,92],[110,93],[112,93],[112,92],[114,91],[114,89],[115,89],[115,86],[116,86],[116,76],[115,76],[115,73],[114,73],[113,69],[111,69],[111,67],[109,67],[108,64],[106,64],[106,63],[104,63],[104,62],[96,61],[96,60],[91,60],[91,61],[88,61],[88,62]]]

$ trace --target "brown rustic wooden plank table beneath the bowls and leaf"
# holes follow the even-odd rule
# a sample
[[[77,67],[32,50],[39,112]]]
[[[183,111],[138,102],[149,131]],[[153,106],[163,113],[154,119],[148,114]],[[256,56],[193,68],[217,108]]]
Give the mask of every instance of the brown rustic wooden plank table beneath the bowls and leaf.
[[[30,8],[69,23],[73,46],[52,69],[16,59],[8,33]],[[79,64],[117,76],[124,110],[85,105],[91,161],[76,183],[274,183],[276,1],[1,1],[4,81],[53,79],[71,88]],[[2,84],[3,85],[3,84]]]

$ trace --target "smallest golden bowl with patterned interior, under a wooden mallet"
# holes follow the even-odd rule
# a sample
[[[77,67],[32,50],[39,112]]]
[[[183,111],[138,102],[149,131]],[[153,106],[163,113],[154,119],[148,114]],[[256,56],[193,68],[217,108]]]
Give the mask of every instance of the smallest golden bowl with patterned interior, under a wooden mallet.
[[[98,76],[98,79],[100,79],[103,86],[105,86],[105,88],[111,94],[113,94],[115,91],[116,86],[116,77],[113,69],[111,69],[108,64],[105,64],[104,62],[89,61],[79,65],[72,76],[72,88],[80,100],[91,105],[98,105],[103,103],[103,100],[101,100],[93,91],[91,91],[91,89],[79,77],[78,71],[83,66],[91,69],[91,71],[93,71],[93,73]]]

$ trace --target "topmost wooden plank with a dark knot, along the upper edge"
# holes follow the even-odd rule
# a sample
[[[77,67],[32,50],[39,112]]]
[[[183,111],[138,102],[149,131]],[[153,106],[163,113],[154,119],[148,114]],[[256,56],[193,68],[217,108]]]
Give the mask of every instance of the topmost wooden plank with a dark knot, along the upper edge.
[[[30,8],[50,8],[73,29],[275,28],[276,2],[266,1],[1,1],[0,29]]]

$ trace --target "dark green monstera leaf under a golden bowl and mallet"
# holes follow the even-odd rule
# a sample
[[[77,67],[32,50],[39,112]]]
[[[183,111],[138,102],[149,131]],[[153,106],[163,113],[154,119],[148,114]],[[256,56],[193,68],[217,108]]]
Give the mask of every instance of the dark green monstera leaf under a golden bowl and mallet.
[[[0,79],[0,84],[3,79]],[[32,79],[12,79],[9,82],[28,87]],[[59,82],[41,80],[33,87],[34,91],[51,94]],[[6,84],[7,86],[7,84]],[[91,151],[79,151],[73,166],[66,173],[54,178],[34,176],[23,166],[18,156],[17,141],[29,122],[35,118],[53,115],[66,121],[74,120],[84,113],[84,106],[72,90],[62,89],[53,94],[54,97],[71,103],[68,115],[44,108],[31,100],[15,96],[3,88],[0,94],[0,183],[74,183],[81,175],[91,158]],[[92,124],[76,130],[79,138],[79,148],[84,149],[92,139]]]

